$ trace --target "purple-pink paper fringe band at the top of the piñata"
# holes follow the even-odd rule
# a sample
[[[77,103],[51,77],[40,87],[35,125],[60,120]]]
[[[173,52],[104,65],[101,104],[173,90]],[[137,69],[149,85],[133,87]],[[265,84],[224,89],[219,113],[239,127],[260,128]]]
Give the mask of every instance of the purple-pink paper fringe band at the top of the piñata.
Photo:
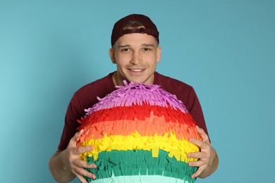
[[[116,86],[114,92],[108,94],[103,99],[100,99],[98,103],[94,104],[92,108],[85,109],[86,116],[94,111],[99,111],[104,108],[114,108],[118,106],[132,106],[138,105],[142,106],[146,103],[150,106],[162,106],[167,107],[167,103],[173,109],[179,109],[183,113],[187,111],[183,102],[176,98],[176,95],[166,92],[161,89],[159,85],[156,84],[135,84],[130,82],[130,84],[125,86]]]

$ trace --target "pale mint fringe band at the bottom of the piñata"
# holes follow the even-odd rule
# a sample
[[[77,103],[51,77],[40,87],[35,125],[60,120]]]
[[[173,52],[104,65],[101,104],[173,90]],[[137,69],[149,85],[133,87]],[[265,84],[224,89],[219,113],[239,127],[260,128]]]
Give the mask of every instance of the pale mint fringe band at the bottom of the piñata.
[[[94,179],[91,181],[92,183],[154,183],[154,182],[163,182],[163,183],[191,183],[195,182],[192,180],[191,182],[188,179],[176,179],[173,177],[164,177],[161,175],[133,175],[133,176],[118,176],[118,177],[110,177],[104,179]]]

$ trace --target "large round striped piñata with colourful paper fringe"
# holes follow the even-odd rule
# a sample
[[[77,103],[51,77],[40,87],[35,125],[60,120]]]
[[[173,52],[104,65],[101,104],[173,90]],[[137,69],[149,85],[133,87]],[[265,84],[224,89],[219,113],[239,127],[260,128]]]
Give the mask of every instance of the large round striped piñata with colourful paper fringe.
[[[195,182],[187,155],[200,149],[188,139],[201,137],[183,102],[159,85],[124,84],[78,121],[78,146],[94,146],[80,158],[97,165],[87,182]]]

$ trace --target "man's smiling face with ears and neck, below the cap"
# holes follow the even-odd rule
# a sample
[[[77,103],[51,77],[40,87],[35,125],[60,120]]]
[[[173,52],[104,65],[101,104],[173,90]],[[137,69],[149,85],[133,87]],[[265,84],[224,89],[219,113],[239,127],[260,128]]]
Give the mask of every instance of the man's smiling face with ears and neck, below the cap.
[[[123,80],[153,84],[154,71],[161,58],[161,47],[154,37],[140,33],[124,34],[109,54],[117,67],[113,76],[116,85],[123,85]]]

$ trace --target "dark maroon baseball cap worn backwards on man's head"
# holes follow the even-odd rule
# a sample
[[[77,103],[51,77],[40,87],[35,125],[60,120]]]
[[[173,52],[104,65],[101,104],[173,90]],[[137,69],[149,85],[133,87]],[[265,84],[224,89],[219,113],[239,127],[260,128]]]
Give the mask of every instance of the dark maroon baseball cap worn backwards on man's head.
[[[143,27],[123,30],[123,27],[125,27],[125,25],[133,20],[142,23]],[[119,37],[122,37],[124,34],[130,33],[145,33],[151,35],[156,38],[157,42],[159,43],[159,31],[157,30],[157,26],[154,25],[152,20],[145,15],[131,14],[124,18],[121,18],[121,20],[118,20],[115,23],[113,31],[111,32],[111,46],[114,46]]]

